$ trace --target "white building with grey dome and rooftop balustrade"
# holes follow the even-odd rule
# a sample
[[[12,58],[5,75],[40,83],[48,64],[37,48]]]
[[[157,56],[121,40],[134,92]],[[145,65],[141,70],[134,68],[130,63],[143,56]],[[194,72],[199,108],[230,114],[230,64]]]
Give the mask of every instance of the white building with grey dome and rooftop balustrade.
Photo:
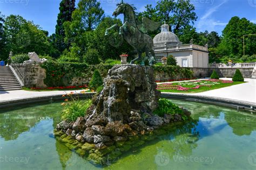
[[[182,44],[176,34],[169,31],[169,25],[161,26],[161,33],[153,39],[156,62],[169,55],[173,55],[180,67],[208,67],[208,48],[194,45]]]

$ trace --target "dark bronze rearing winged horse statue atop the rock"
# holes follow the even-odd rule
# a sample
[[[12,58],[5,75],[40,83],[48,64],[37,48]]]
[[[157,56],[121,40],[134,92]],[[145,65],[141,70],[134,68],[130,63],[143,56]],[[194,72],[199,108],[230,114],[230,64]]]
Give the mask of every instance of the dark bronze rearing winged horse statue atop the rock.
[[[123,39],[125,39],[128,44],[130,44],[138,53],[138,58],[131,61],[133,64],[137,60],[142,59],[142,53],[146,53],[146,58],[149,59],[150,65],[154,64],[154,49],[153,49],[153,39],[147,35],[148,31],[154,31],[161,25],[160,22],[153,22],[148,18],[143,18],[140,22],[136,18],[135,11],[136,8],[133,5],[124,3],[117,4],[117,9],[113,12],[113,16],[117,17],[121,13],[124,14],[124,25],[119,27],[117,24],[106,29],[105,36],[109,35],[111,30],[116,30],[119,35],[113,36],[112,38],[118,41],[116,47],[122,44]],[[114,35],[114,34],[113,34]],[[151,53],[151,56],[149,55]]]

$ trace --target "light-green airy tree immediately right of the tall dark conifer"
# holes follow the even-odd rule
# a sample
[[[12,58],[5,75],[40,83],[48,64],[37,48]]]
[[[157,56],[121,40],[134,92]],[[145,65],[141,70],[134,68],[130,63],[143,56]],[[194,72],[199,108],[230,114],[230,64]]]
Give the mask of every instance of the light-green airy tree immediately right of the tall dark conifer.
[[[69,51],[81,56],[85,55],[92,31],[104,18],[104,10],[96,0],[80,0],[78,8],[72,13],[72,21],[65,22],[65,41],[71,40]],[[74,48],[73,48],[74,47]],[[65,52],[68,54],[67,52]]]

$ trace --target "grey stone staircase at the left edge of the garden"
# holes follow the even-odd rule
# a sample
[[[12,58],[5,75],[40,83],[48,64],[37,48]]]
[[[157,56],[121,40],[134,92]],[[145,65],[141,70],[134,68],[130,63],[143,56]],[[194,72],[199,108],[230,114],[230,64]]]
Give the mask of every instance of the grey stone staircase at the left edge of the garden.
[[[9,66],[0,66],[0,91],[21,90],[14,73],[12,73]]]

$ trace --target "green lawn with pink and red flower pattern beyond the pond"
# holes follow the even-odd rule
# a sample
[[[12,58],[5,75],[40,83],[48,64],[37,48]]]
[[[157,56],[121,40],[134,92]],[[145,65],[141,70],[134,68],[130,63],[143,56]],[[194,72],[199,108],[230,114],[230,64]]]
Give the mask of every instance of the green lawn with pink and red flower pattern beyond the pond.
[[[224,83],[226,82],[226,83]],[[219,80],[217,82],[212,81],[189,81],[189,82],[177,82],[177,83],[166,83],[158,84],[157,89],[161,92],[170,92],[170,93],[200,93],[203,91],[219,89],[228,86],[234,86],[245,82],[232,82],[232,81],[223,81]],[[184,89],[184,88],[196,88],[197,89]]]

